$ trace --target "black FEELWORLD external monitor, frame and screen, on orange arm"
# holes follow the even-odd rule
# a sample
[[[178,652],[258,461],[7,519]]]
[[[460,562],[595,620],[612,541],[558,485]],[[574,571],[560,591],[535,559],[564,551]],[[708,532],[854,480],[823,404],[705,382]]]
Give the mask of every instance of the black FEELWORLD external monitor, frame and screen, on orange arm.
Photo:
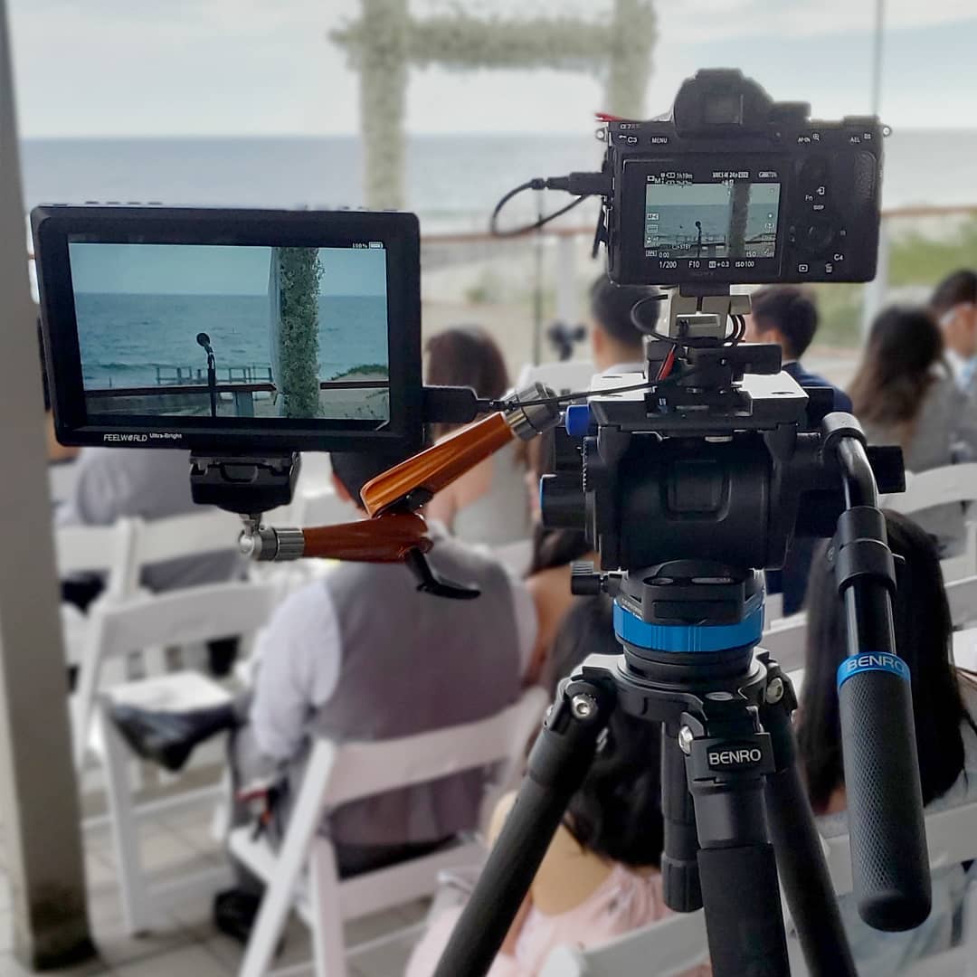
[[[41,207],[32,223],[64,444],[420,443],[412,214]]]

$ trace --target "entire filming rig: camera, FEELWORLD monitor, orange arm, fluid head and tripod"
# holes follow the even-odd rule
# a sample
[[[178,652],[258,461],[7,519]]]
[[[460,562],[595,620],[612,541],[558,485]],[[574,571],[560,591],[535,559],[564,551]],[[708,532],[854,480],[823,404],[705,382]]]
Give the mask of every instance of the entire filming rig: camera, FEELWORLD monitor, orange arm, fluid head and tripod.
[[[595,246],[607,244],[612,279],[677,286],[663,328],[650,324],[651,298],[632,311],[647,334],[644,372],[563,396],[534,385],[488,403],[421,386],[411,215],[33,214],[59,439],[191,447],[194,498],[247,516],[242,546],[257,559],[401,561],[421,589],[477,596],[432,572],[418,510],[514,438],[554,428],[567,407],[543,516],[598,549],[602,569],[577,570],[573,589],[614,596],[623,654],[588,659],[561,687],[438,977],[488,970],[614,708],[662,724],[665,900],[704,904],[717,977],[788,972],[778,868],[812,971],[854,975],[793,766],[796,701],[777,663],[754,653],[759,571],[783,563],[795,523],[830,535],[837,522],[850,652],[871,652],[838,680],[860,912],[882,929],[929,912],[910,687],[891,666],[895,572],[877,508],[879,487],[903,488],[901,454],[867,449],[854,418],[781,370],[779,347],[742,344],[749,302],[730,291],[874,273],[885,130],[807,116],[739,71],[701,71],[667,118],[604,117],[600,172],[535,178],[502,198],[496,230],[516,193],[576,197],[514,234],[599,195]],[[298,450],[409,448],[425,420],[489,410],[368,483],[369,520],[262,525],[290,497]]]

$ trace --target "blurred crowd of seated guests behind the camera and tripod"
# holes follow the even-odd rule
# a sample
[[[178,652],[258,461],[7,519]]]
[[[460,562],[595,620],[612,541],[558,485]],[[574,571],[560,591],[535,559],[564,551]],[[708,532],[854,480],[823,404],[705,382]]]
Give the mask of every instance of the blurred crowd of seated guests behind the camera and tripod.
[[[644,366],[634,304],[655,289],[616,287],[605,279],[589,292],[593,371],[617,374]],[[802,387],[828,387],[834,409],[850,411],[872,445],[899,445],[907,470],[919,473],[977,460],[977,273],[962,270],[934,290],[928,304],[884,309],[874,319],[854,380],[832,387],[803,361],[818,329],[815,300],[793,286],[752,296],[745,340],[776,343],[784,368]],[[433,337],[426,382],[462,385],[500,398],[512,378],[490,335],[475,325]],[[437,425],[432,442],[455,432]],[[275,782],[265,823],[280,837],[289,797],[302,776],[310,739],[381,740],[473,721],[541,684],[555,692],[588,655],[616,652],[612,609],[603,597],[573,598],[571,565],[598,561],[581,532],[540,525],[538,480],[550,470],[552,444],[509,446],[466,473],[426,507],[435,546],[430,562],[450,580],[477,585],[475,601],[421,594],[400,566],[341,564],[292,592],[278,607],[255,651],[253,682],[217,709],[153,712],[119,706],[114,719],[142,756],[168,769],[186,763],[203,740],[226,735],[234,784]],[[331,457],[334,490],[359,505],[373,476],[403,460],[396,454]],[[186,457],[177,452],[85,448],[74,459],[62,525],[109,525],[138,515],[157,519],[192,508]],[[960,551],[967,513],[936,506],[913,521],[887,514],[889,541],[904,561],[896,603],[899,654],[911,667],[916,739],[927,810],[974,798],[977,780],[977,688],[951,655],[952,623],[940,560]],[[809,799],[826,836],[844,833],[834,671],[845,654],[840,600],[825,545],[795,540],[786,565],[768,573],[768,591],[784,594],[785,613],[808,616],[803,697],[796,724]],[[144,583],[160,592],[242,573],[226,555],[210,562],[157,568]],[[98,578],[63,581],[64,599],[86,607]],[[210,649],[211,667],[226,674],[234,639]],[[589,946],[668,913],[659,871],[660,731],[620,715],[597,761],[574,794],[491,970],[536,974],[558,943]],[[651,758],[651,759],[650,759]],[[290,788],[289,788],[290,785]],[[353,875],[396,864],[451,843],[477,827],[484,787],[479,772],[413,786],[330,814],[323,829],[339,870]],[[494,835],[512,798],[492,820]],[[241,804],[236,823],[253,817]],[[261,884],[240,871],[215,902],[218,925],[246,939]],[[860,973],[892,974],[949,946],[965,883],[962,866],[934,875],[934,911],[910,933],[879,933],[842,897],[842,915]],[[436,903],[436,905],[438,905]],[[433,972],[457,908],[433,913],[412,957],[410,977]]]

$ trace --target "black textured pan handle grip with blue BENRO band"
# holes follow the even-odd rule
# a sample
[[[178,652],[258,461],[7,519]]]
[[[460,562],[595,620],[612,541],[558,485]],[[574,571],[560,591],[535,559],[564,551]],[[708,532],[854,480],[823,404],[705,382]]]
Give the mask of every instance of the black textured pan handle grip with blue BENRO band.
[[[856,655],[838,669],[855,898],[874,929],[918,926],[931,905],[909,668]]]

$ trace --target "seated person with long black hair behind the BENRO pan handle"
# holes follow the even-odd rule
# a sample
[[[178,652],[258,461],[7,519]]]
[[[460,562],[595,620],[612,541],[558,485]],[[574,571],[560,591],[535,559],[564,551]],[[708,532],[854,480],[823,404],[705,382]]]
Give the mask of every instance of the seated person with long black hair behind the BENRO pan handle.
[[[893,602],[896,652],[910,667],[919,775],[926,811],[977,799],[977,686],[954,667],[950,608],[931,538],[911,520],[886,513],[889,546],[906,563]],[[826,837],[845,834],[844,773],[835,672],[848,653],[844,603],[824,551],[811,575],[808,642],[797,740],[811,806]],[[892,812],[898,817],[897,811]],[[862,921],[855,899],[840,897],[841,917],[863,977],[900,973],[948,949],[963,899],[959,865],[933,870],[933,910],[916,929],[881,933]]]

